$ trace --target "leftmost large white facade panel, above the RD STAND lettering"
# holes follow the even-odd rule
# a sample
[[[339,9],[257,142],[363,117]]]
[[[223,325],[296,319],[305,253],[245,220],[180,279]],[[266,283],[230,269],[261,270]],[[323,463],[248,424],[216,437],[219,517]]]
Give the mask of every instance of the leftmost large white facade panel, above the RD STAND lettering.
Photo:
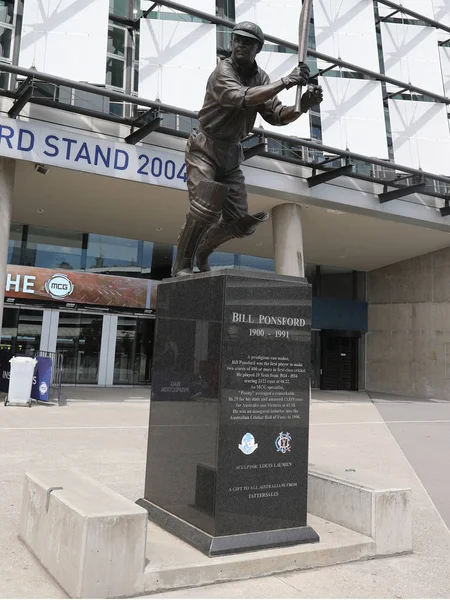
[[[19,66],[104,84],[109,0],[26,0]]]

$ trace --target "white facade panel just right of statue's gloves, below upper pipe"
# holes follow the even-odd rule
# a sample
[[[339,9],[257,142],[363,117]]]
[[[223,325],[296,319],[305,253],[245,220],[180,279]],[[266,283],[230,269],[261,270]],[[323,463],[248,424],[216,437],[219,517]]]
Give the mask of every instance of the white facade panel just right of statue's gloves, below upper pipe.
[[[321,77],[322,139],[327,146],[376,158],[388,158],[381,84]]]

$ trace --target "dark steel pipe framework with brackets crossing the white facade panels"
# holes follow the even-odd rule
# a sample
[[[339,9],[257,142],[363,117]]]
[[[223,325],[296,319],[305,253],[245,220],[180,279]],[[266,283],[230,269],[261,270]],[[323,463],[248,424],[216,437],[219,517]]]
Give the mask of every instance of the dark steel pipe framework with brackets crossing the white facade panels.
[[[408,15],[414,17],[415,19],[420,19],[434,27],[439,27],[440,29],[450,32],[449,27],[441,25],[441,24],[437,23],[436,21],[433,21],[432,19],[428,19],[428,18],[424,17],[423,15],[419,15],[419,13],[410,11],[409,9],[406,9],[394,2],[391,2],[390,0],[378,0],[378,1],[382,4],[385,4],[386,6],[397,9],[399,12],[404,12],[405,14],[408,14]],[[235,24],[234,21],[231,21],[229,19],[217,17],[215,15],[209,15],[207,13],[203,13],[203,12],[195,10],[195,9],[187,8],[187,7],[183,6],[182,4],[173,2],[172,0],[157,0],[157,1],[155,1],[153,3],[153,5],[151,6],[151,8],[148,11],[146,11],[146,15],[148,15],[151,12],[151,10],[153,10],[157,5],[163,5],[168,8],[173,8],[174,10],[179,10],[181,12],[184,12],[185,14],[189,14],[191,16],[198,17],[207,22],[210,22],[210,23],[213,23],[216,25],[222,25],[227,28],[232,28],[232,27],[234,27],[234,24]],[[139,19],[136,21],[129,20],[129,19],[122,19],[120,17],[114,17],[114,18],[111,17],[111,19],[112,20],[121,19],[122,21],[126,21],[126,23],[124,22],[123,24],[126,24],[127,26],[129,26],[133,29],[137,29],[139,27]],[[273,44],[285,46],[292,50],[297,50],[296,44],[293,44],[286,40],[282,40],[282,39],[279,39],[279,38],[276,38],[276,37],[273,37],[270,35],[266,36],[266,40]],[[346,61],[342,61],[340,59],[337,59],[337,58],[334,58],[331,56],[327,56],[325,54],[316,52],[315,50],[308,50],[308,55],[318,58],[320,60],[323,60],[325,62],[328,62],[331,65],[331,67],[325,69],[324,71],[330,70],[331,68],[333,68],[335,66],[340,66],[340,67],[349,69],[351,71],[354,71],[356,73],[360,73],[361,75],[369,77],[370,79],[395,85],[402,91],[409,90],[416,94],[420,94],[420,95],[426,96],[428,98],[431,98],[431,99],[435,100],[436,102],[450,105],[450,98],[447,98],[446,96],[434,94],[428,90],[424,90],[424,89],[418,88],[416,86],[407,84],[405,82],[393,79],[391,77],[387,77],[386,75],[383,75],[381,73],[376,73],[374,71],[364,69],[363,67],[359,67],[358,65],[354,65],[352,63],[348,63]],[[98,86],[95,86],[92,84],[81,83],[81,82],[73,81],[70,79],[63,78],[63,77],[57,77],[57,76],[50,75],[47,73],[38,72],[35,69],[24,69],[24,68],[18,67],[16,65],[11,65],[11,64],[5,63],[5,64],[0,64],[0,72],[1,71],[13,74],[15,76],[25,78],[25,82],[17,89],[17,91],[13,91],[10,89],[4,89],[4,90],[0,89],[0,96],[9,97],[14,100],[14,104],[8,113],[9,116],[12,118],[16,118],[19,115],[20,111],[23,110],[24,106],[28,102],[34,103],[34,104],[39,104],[39,105],[44,105],[44,106],[49,106],[49,107],[59,109],[59,110],[69,111],[69,112],[77,113],[80,115],[86,115],[86,116],[95,117],[95,118],[99,118],[99,119],[112,121],[112,122],[130,126],[131,133],[124,140],[129,144],[137,143],[138,141],[144,139],[147,135],[149,135],[153,131],[159,131],[161,133],[166,133],[169,135],[175,135],[175,136],[179,136],[179,137],[186,137],[186,134],[183,132],[168,129],[163,126],[162,122],[163,122],[164,114],[173,114],[173,115],[178,115],[178,116],[184,116],[184,117],[191,118],[191,119],[197,119],[197,113],[193,112],[193,111],[189,111],[189,110],[186,110],[186,109],[183,109],[180,107],[176,107],[176,106],[171,106],[171,105],[164,104],[161,102],[147,100],[145,98],[140,98],[135,95],[125,94],[123,92],[118,92],[116,90],[107,89],[104,87],[98,87]],[[318,74],[320,74],[320,73],[318,73]],[[72,89],[85,91],[88,93],[107,97],[110,100],[113,100],[115,102],[130,103],[130,104],[134,105],[136,108],[138,106],[144,107],[144,108],[147,108],[148,111],[145,115],[140,115],[139,117],[133,119],[133,118],[126,118],[126,117],[119,117],[116,115],[110,115],[107,113],[102,113],[102,112],[91,110],[91,109],[76,107],[71,104],[65,104],[62,102],[58,102],[56,100],[34,97],[33,90],[35,89],[37,82],[54,84],[55,86],[65,86],[65,87],[69,87]],[[400,93],[400,92],[398,92],[398,93]],[[145,122],[146,115],[150,117],[150,122]],[[384,192],[383,192],[383,194],[379,195],[380,202],[386,202],[387,199],[402,198],[402,197],[407,196],[408,193],[409,194],[421,193],[422,195],[425,195],[425,196],[442,198],[444,200],[444,203],[443,203],[444,207],[449,206],[449,203],[450,203],[450,177],[446,177],[443,175],[437,175],[435,173],[429,173],[426,171],[422,171],[421,169],[414,169],[412,167],[407,167],[405,165],[398,165],[394,162],[390,162],[389,160],[376,159],[376,158],[364,156],[361,154],[357,154],[354,152],[350,152],[348,150],[342,150],[340,148],[333,148],[330,146],[325,146],[325,145],[321,144],[320,142],[312,141],[309,139],[300,139],[300,138],[296,138],[296,137],[292,137],[292,136],[283,135],[280,133],[275,133],[272,131],[267,131],[265,129],[256,129],[255,128],[252,133],[253,133],[253,136],[256,136],[257,139],[259,140],[259,144],[257,146],[248,147],[245,149],[246,159],[248,159],[252,156],[255,156],[255,155],[260,155],[260,156],[266,156],[268,158],[272,158],[274,160],[281,160],[284,162],[299,164],[304,167],[311,168],[313,174],[312,174],[312,177],[309,178],[310,187],[312,187],[314,185],[319,185],[322,182],[325,183],[326,181],[331,181],[337,177],[345,176],[345,177],[349,177],[349,178],[362,179],[362,180],[366,180],[366,181],[370,181],[373,183],[378,183],[378,184],[383,185]],[[298,148],[295,148],[295,149],[288,148],[288,151],[290,154],[292,154],[292,157],[291,156],[289,156],[289,157],[279,156],[278,154],[273,153],[270,150],[268,150],[267,140],[269,140],[269,139],[276,140],[278,142],[286,143],[289,145],[295,144],[296,146],[298,145]],[[303,158],[303,156],[301,158],[299,158],[299,153],[302,153],[304,149],[315,150],[323,156],[319,159],[319,162],[317,162],[314,159],[313,160],[309,160],[308,158],[305,159],[305,158]],[[341,161],[340,164],[339,164],[339,161]],[[326,163],[330,163],[330,162],[335,162],[338,164],[333,166],[332,168],[323,166]],[[382,167],[383,169],[386,169],[386,172],[384,174],[382,174],[381,176],[358,173],[355,169],[352,168],[352,165],[356,166],[355,162],[362,162],[362,163],[365,163],[366,165]],[[317,174],[317,170],[322,171],[322,173]],[[420,187],[417,185],[414,185],[416,183],[418,177],[419,177],[419,180],[421,182],[423,182],[423,185],[421,185]],[[407,183],[406,185],[404,185],[401,183],[401,181],[404,181],[405,179],[409,179],[409,178],[412,179],[412,181],[409,184]],[[431,186],[434,189],[430,189],[429,186],[427,187],[427,189],[424,189],[425,185],[427,183],[431,184]],[[439,187],[438,183],[445,184],[445,186],[446,186],[445,193],[441,193],[436,190],[436,188]],[[387,187],[394,188],[393,192],[387,192]],[[442,216],[447,216],[448,214],[449,213],[447,210],[441,209]]]

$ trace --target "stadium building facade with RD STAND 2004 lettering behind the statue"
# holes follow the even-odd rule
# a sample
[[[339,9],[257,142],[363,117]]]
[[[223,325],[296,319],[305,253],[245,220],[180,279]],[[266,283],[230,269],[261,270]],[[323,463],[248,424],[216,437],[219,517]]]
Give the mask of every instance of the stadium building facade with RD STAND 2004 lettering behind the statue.
[[[296,0],[0,2],[4,352],[63,354],[67,384],[151,383],[207,78],[243,20],[259,65],[289,73],[298,17]],[[309,41],[324,101],[256,123],[249,204],[272,219],[213,268],[286,272],[299,252],[313,387],[449,399],[450,0],[315,0]]]

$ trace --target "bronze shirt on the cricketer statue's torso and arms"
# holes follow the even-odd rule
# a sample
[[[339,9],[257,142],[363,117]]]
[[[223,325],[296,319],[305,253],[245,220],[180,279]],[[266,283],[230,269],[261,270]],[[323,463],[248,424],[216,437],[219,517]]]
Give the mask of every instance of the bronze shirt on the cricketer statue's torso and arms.
[[[250,133],[258,113],[271,125],[281,125],[284,105],[277,96],[260,106],[245,106],[249,88],[269,83],[269,76],[256,63],[244,74],[231,58],[222,60],[208,80],[199,112],[203,131],[213,139],[237,143]]]

